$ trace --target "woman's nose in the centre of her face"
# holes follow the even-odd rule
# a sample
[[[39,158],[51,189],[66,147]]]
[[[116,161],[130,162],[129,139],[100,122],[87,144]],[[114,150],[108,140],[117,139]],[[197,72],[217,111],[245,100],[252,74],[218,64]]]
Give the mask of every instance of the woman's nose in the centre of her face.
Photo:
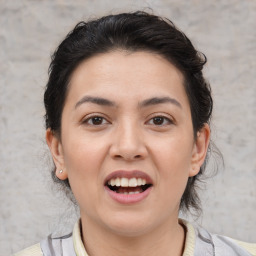
[[[142,128],[134,122],[126,122],[119,125],[110,148],[111,157],[134,161],[144,159],[147,154]]]

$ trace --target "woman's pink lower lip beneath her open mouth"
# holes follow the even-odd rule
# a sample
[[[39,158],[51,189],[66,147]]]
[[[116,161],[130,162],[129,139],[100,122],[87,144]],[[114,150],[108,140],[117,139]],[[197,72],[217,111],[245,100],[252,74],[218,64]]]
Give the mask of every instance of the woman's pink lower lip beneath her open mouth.
[[[117,201],[118,203],[134,204],[134,203],[138,203],[138,202],[144,200],[151,192],[152,187],[149,187],[148,189],[146,189],[145,191],[143,191],[141,193],[131,194],[131,195],[116,193],[116,192],[112,191],[108,186],[105,186],[105,189],[106,189],[107,193],[110,195],[110,197],[112,199],[114,199],[115,201]]]

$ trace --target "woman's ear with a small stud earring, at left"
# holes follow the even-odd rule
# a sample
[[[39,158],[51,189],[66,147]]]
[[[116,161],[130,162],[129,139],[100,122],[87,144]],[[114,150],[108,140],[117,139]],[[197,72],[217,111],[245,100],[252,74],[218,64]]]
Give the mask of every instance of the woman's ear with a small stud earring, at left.
[[[51,151],[54,164],[56,166],[56,176],[60,180],[68,178],[67,171],[64,165],[63,149],[60,139],[51,129],[46,130],[46,142]]]

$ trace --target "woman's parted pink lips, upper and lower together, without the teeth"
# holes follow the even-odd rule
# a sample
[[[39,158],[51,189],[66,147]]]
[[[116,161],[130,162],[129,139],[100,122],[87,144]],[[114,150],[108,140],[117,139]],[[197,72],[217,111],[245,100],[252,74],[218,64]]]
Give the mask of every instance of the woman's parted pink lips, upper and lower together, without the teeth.
[[[148,184],[153,185],[153,181],[151,177],[146,174],[145,172],[132,170],[132,171],[125,171],[125,170],[118,170],[115,172],[110,173],[104,180],[104,188],[108,195],[118,203],[121,204],[134,204],[144,200],[151,192],[152,186],[147,188],[145,191],[138,193],[138,194],[121,194],[112,191],[108,186],[107,182],[111,179],[115,178],[141,178],[145,179]]]

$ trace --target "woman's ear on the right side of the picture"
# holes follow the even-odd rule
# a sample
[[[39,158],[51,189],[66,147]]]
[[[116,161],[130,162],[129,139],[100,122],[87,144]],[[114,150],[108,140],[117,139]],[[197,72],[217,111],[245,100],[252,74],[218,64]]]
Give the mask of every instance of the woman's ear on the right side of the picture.
[[[204,163],[210,142],[210,134],[211,132],[208,124],[205,124],[204,127],[197,132],[197,137],[192,151],[189,177],[197,175],[200,171],[200,167]]]

